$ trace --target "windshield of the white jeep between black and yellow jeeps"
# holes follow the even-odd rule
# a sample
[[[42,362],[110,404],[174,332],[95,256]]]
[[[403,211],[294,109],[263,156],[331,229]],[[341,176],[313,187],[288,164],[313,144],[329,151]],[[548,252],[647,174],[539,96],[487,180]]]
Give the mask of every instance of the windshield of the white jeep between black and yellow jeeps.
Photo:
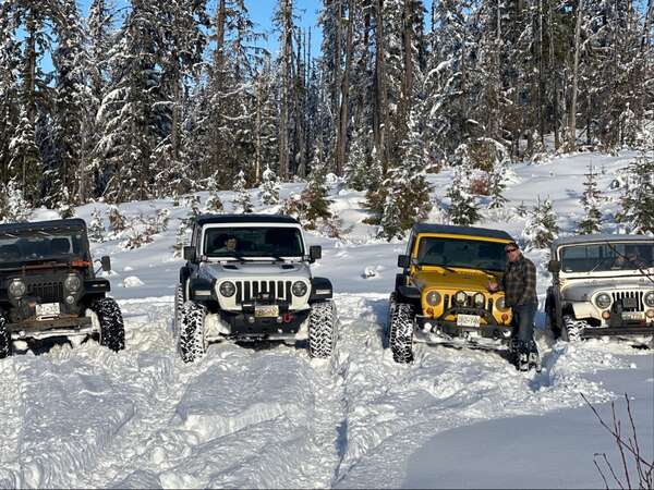
[[[209,258],[302,257],[304,246],[296,228],[239,226],[205,231],[204,255]]]

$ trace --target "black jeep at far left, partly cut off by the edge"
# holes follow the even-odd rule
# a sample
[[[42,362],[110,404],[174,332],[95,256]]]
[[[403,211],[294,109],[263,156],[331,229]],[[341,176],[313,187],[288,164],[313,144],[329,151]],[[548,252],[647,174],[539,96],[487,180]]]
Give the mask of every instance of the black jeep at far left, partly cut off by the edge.
[[[111,269],[102,257],[105,271]],[[93,336],[124,348],[109,281],[96,278],[81,219],[0,225],[0,358],[12,341]]]

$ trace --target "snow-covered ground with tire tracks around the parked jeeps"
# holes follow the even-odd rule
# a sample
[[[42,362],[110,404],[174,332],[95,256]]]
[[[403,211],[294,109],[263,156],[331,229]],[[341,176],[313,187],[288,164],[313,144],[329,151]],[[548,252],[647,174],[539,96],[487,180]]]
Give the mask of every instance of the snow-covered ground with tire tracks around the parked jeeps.
[[[604,172],[606,231],[616,231],[610,213],[619,191],[611,182],[633,156],[580,154],[513,167],[507,210],[481,225],[520,237],[524,220],[511,208],[530,207],[540,195],[553,199],[570,232],[592,159]],[[429,176],[435,198],[450,176]],[[287,185],[282,197],[300,188]],[[220,197],[229,209],[233,194]],[[223,343],[190,366],[171,331],[182,264],[172,245],[189,209],[169,200],[120,206],[128,216],[171,211],[168,231],[140,249],[123,249],[124,237],[94,245],[96,256],[112,258],[126,350],[88,342],[0,362],[0,488],[600,487],[594,453],[620,464],[580,393],[607,418],[611,401],[625,417],[628,393],[641,448],[654,457],[652,351],[602,341],[553,345],[541,314],[538,375],[517,372],[499,353],[448,347],[417,346],[415,363],[396,365],[382,348],[382,326],[405,245],[374,237],[362,223],[361,193],[335,187],[332,198],[342,238],[308,235],[324,249],[315,273],[337,292],[332,359],[310,359],[302,346]],[[87,205],[77,215],[88,221],[94,208],[107,209]],[[540,264],[543,298],[544,253],[530,256]]]

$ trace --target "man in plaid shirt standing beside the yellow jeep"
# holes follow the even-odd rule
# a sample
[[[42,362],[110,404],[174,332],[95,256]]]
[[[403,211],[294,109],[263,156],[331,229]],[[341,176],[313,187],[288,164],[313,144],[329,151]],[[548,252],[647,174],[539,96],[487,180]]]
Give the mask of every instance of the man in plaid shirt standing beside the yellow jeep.
[[[518,345],[514,346],[517,367],[528,370],[532,364],[530,356],[537,357],[534,342],[534,317],[538,309],[536,296],[536,267],[524,257],[514,242],[505,247],[507,267],[501,279],[505,302],[513,313],[513,326],[518,328]],[[497,291],[499,284],[488,285],[491,291]],[[535,363],[534,363],[535,364]]]

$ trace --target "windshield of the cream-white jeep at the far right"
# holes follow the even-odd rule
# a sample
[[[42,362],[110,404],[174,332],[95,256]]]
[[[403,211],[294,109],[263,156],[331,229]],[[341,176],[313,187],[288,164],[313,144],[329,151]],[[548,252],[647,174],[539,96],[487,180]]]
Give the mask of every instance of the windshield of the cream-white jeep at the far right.
[[[638,271],[654,267],[654,243],[568,245],[560,250],[562,272]]]

